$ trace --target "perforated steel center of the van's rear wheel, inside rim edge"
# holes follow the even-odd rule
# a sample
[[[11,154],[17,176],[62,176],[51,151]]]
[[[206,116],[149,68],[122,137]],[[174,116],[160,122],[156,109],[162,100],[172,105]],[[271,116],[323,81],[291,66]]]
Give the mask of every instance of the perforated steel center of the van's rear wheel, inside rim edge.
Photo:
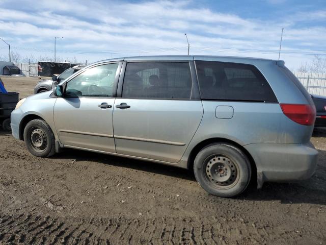
[[[218,185],[230,185],[237,177],[235,164],[225,156],[214,156],[207,161],[206,175]]]

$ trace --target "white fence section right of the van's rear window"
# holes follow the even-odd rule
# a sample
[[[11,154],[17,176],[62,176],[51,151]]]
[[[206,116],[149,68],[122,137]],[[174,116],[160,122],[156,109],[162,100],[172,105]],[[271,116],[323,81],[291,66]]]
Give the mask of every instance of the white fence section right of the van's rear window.
[[[326,96],[326,73],[293,73],[309,93]]]

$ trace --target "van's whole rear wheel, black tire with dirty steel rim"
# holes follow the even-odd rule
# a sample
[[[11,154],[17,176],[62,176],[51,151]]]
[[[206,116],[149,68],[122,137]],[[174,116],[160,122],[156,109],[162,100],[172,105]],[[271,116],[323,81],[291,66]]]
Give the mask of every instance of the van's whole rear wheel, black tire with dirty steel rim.
[[[236,146],[214,143],[197,154],[194,173],[198,183],[208,193],[230,198],[247,188],[251,165],[248,157]]]

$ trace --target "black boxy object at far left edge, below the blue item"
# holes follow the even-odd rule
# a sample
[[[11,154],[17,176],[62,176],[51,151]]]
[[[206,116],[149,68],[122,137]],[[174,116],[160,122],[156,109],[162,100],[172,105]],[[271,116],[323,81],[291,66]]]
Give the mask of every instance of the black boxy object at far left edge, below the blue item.
[[[5,131],[10,131],[10,114],[19,100],[19,93],[0,93],[0,124]]]

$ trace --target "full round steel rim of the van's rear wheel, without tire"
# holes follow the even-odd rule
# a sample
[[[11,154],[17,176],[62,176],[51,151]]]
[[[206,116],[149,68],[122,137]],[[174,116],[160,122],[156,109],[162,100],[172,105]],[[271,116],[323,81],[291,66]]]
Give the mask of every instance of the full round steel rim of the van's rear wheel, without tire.
[[[206,179],[218,189],[230,189],[239,180],[238,164],[230,157],[215,154],[205,160]]]

